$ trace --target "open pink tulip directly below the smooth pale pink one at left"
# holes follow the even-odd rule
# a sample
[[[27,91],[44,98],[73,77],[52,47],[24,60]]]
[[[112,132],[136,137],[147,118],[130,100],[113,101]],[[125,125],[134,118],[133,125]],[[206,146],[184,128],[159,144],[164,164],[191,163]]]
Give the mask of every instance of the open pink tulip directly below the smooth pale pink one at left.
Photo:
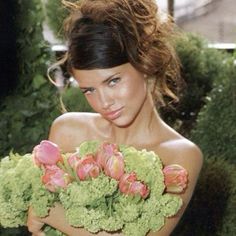
[[[46,165],[42,182],[49,191],[55,192],[59,187],[65,188],[71,182],[71,178],[58,166]]]

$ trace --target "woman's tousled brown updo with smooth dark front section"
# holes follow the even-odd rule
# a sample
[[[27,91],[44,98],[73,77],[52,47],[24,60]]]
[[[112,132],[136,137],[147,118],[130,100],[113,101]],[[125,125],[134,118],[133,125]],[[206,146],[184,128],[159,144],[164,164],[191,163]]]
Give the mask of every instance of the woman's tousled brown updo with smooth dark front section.
[[[160,105],[164,105],[163,96],[178,100],[180,66],[173,46],[174,23],[169,16],[163,17],[154,0],[62,2],[71,10],[64,25],[69,71],[130,62],[148,75]]]

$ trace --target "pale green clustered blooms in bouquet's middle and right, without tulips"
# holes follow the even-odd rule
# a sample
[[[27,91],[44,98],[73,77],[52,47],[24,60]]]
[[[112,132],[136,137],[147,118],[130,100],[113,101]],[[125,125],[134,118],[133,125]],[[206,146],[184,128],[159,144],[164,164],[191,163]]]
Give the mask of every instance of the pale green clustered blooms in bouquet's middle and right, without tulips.
[[[80,147],[80,156],[96,153],[97,142],[86,141]],[[121,194],[117,191],[118,182],[104,174],[88,181],[73,182],[59,195],[71,225],[83,226],[93,233],[100,229],[122,229],[124,235],[146,235],[149,230],[158,231],[164,225],[165,217],[175,215],[181,208],[179,196],[163,193],[162,163],[154,152],[124,146],[121,152],[125,172],[134,171],[139,180],[148,184],[149,197],[143,200],[140,196]]]

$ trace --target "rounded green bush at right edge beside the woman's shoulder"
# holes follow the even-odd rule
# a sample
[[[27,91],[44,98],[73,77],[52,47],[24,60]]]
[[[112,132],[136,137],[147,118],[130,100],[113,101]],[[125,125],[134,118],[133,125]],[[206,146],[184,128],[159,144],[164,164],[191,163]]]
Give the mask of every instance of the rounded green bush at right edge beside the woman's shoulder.
[[[231,64],[231,71],[221,83],[216,83],[207,96],[207,104],[192,131],[192,140],[200,146],[204,155],[223,155],[235,163],[236,67],[233,59],[228,64]]]

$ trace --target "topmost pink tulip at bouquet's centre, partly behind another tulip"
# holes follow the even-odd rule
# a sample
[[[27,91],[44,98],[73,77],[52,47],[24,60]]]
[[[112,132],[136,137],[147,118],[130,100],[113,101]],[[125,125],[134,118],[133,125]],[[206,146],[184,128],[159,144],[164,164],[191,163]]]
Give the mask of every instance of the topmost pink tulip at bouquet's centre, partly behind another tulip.
[[[118,145],[114,143],[104,142],[98,148],[95,159],[100,168],[104,168],[107,160],[118,152]]]

